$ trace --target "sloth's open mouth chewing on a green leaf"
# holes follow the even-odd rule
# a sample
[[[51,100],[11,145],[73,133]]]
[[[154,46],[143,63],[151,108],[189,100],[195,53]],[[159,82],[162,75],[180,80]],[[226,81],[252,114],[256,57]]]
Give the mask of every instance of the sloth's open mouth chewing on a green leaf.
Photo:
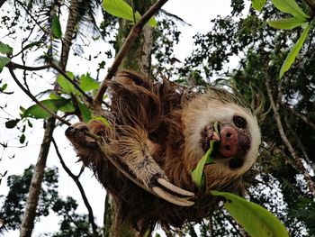
[[[207,152],[210,149],[210,141],[220,142],[220,123],[207,124],[201,132],[202,150]]]

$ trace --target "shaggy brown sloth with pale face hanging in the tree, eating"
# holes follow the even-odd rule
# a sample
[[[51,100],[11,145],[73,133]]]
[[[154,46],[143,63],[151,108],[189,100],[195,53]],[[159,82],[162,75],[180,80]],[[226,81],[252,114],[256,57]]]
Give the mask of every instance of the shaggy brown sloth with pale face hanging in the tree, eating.
[[[215,87],[197,92],[167,79],[153,83],[130,70],[117,71],[107,86],[111,108],[103,115],[110,127],[78,122],[66,135],[112,196],[117,226],[130,223],[140,232],[157,223],[180,227],[211,215],[219,200],[210,190],[243,195],[243,176],[257,160],[260,131],[238,96]],[[86,132],[102,137],[102,149]],[[192,170],[211,140],[216,141],[213,163],[203,170],[201,189]]]

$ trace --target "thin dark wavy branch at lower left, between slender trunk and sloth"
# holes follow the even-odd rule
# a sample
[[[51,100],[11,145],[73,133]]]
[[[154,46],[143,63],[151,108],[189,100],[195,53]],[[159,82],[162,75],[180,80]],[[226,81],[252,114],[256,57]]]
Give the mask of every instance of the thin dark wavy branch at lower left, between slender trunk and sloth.
[[[87,200],[87,197],[85,195],[85,190],[84,188],[82,187],[82,184],[78,178],[78,176],[74,175],[70,169],[67,168],[67,165],[65,163],[65,161],[62,159],[62,156],[58,150],[58,145],[56,143],[56,141],[52,138],[52,143],[54,144],[54,147],[55,147],[55,150],[56,150],[56,153],[57,153],[57,156],[58,156],[58,159],[60,160],[60,163],[61,163],[61,166],[63,169],[65,169],[65,171],[67,172],[67,175],[72,178],[75,183],[76,183],[76,187],[79,189],[80,191],[80,194],[82,196],[82,199],[83,199],[83,202],[85,203],[85,206],[86,206],[86,209],[87,209],[87,212],[88,212],[88,221],[89,223],[91,223],[92,225],[92,230],[95,234],[95,236],[98,235],[97,233],[97,225],[95,224],[94,222],[94,214],[93,214],[93,209],[89,203],[89,201]]]

